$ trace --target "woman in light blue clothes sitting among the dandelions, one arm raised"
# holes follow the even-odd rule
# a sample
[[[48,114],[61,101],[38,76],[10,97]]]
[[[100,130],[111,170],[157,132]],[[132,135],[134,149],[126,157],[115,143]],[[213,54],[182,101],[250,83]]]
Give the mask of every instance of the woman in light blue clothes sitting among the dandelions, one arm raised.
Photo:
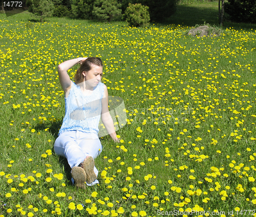
[[[75,82],[67,73],[75,64]],[[67,158],[72,168],[72,182],[80,188],[99,183],[94,158],[101,153],[98,126],[102,123],[114,141],[119,142],[108,107],[108,89],[101,83],[100,58],[77,58],[58,65],[58,76],[65,93],[65,117],[54,143],[57,155]]]

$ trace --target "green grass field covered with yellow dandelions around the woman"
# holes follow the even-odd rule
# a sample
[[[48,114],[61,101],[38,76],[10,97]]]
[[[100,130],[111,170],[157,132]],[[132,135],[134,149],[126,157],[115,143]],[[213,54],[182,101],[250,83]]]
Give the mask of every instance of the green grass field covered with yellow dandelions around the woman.
[[[174,25],[19,17],[0,14],[0,216],[256,210],[255,30],[200,38]],[[127,124],[120,143],[101,138],[99,184],[82,190],[53,151],[65,115],[57,65],[89,56],[102,59]]]

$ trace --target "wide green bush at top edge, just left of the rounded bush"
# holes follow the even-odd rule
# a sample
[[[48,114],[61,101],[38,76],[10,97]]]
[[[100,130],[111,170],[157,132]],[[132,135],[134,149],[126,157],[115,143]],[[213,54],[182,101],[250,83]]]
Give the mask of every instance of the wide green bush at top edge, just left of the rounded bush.
[[[117,0],[96,0],[93,7],[93,18],[103,21],[121,16],[121,4]]]

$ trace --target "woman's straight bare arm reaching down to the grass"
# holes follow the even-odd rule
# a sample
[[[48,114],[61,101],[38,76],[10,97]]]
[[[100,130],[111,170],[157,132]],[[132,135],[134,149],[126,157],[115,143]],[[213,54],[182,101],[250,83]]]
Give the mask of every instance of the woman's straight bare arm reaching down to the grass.
[[[103,125],[106,128],[106,131],[108,131],[110,137],[114,140],[119,142],[119,139],[116,136],[116,131],[113,123],[113,119],[110,115],[109,112],[109,94],[108,94],[108,88],[106,88],[106,85],[104,85],[104,96],[102,98],[101,104],[102,104],[102,109],[101,109],[101,120]]]

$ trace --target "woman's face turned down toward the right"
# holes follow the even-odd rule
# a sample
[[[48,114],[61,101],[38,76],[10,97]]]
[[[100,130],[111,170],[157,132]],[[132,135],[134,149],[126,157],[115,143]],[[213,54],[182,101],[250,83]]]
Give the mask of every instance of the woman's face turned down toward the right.
[[[95,87],[98,85],[98,83],[101,80],[102,77],[102,67],[98,65],[92,64],[92,69],[90,71],[83,71],[83,76],[85,75],[85,82],[86,85],[89,85],[91,87]]]

